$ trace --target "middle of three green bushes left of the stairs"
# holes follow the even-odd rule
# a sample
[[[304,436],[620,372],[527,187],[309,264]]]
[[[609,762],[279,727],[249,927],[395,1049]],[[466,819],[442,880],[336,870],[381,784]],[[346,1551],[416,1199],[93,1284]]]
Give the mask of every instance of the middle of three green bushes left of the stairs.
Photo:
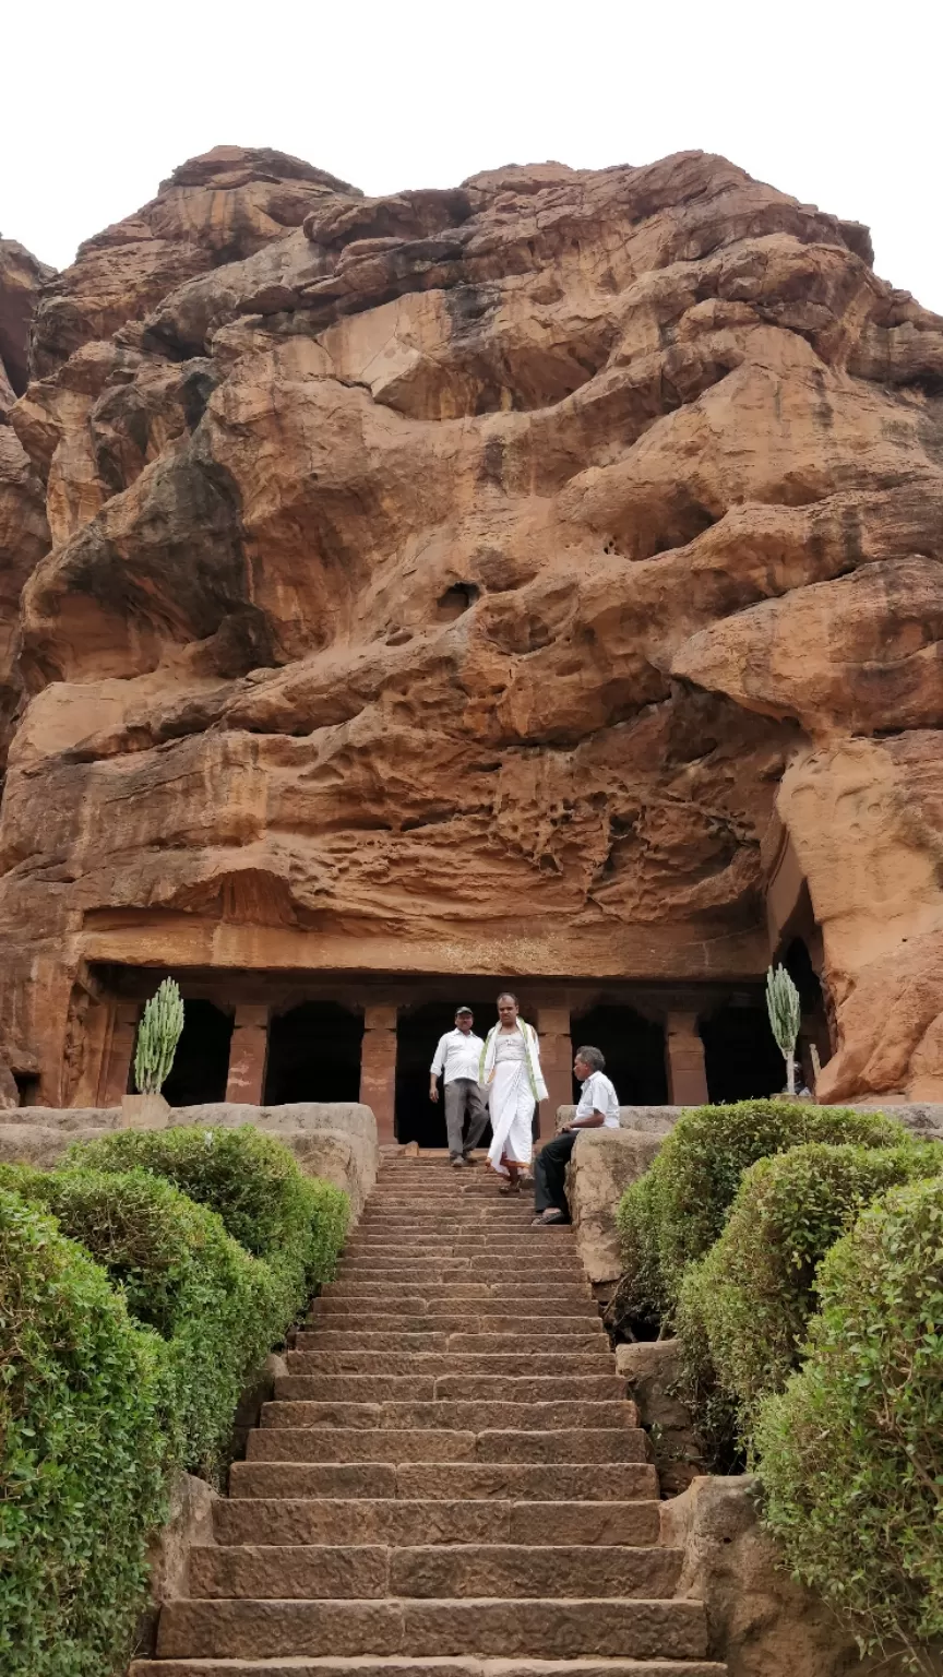
[[[218,1479],[248,1375],[280,1338],[279,1288],[221,1219],[146,1171],[29,1171],[0,1186],[40,1202],[161,1337],[163,1417],[183,1467]]]

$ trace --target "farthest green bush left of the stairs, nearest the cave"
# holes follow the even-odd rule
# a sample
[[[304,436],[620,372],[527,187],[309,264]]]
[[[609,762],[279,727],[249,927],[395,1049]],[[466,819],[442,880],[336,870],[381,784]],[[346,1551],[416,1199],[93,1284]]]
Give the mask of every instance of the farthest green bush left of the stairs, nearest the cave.
[[[284,1142],[242,1129],[116,1130],[70,1147],[67,1162],[97,1171],[141,1167],[223,1219],[280,1286],[284,1328],[331,1278],[347,1228],[347,1196],[305,1177]]]

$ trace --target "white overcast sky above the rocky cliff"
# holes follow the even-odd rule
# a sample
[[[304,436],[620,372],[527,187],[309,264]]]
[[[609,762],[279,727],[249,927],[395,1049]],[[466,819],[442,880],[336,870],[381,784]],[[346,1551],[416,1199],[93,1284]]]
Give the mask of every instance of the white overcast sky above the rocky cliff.
[[[943,314],[941,0],[7,0],[0,59],[0,233],[55,267],[223,143],[367,193],[701,148]]]

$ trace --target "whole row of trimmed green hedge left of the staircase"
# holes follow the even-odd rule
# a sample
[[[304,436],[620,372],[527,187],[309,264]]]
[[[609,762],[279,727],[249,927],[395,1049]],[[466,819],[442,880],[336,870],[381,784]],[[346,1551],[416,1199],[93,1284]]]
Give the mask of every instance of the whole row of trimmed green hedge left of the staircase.
[[[240,1390],[334,1273],[347,1209],[248,1127],[0,1167],[3,1677],[124,1669],[166,1472],[225,1461]]]

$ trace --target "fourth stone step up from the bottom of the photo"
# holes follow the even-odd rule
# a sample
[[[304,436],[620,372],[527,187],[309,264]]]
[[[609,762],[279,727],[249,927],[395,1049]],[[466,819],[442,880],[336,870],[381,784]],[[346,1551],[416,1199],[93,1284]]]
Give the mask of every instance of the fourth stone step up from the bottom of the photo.
[[[430,1543],[656,1545],[659,1504],[634,1503],[406,1503],[388,1499],[218,1498],[216,1543]]]

